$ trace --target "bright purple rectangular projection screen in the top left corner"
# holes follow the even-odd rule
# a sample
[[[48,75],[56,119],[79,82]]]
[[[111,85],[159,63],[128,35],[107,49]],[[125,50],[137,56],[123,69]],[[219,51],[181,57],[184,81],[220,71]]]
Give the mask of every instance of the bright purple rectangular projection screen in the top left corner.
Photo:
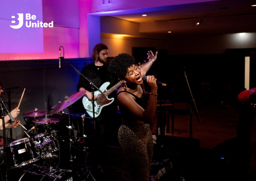
[[[44,53],[42,21],[41,0],[1,0],[0,53]]]

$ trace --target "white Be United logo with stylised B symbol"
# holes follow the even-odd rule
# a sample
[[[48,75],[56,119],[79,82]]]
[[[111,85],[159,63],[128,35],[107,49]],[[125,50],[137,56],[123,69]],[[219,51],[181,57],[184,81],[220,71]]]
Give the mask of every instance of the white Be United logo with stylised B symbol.
[[[18,21],[19,21],[19,24],[18,25],[10,25],[10,27],[11,28],[14,28],[14,29],[19,29],[19,28],[21,28],[22,26],[23,26],[23,13],[17,13],[17,15],[19,16],[18,17]],[[15,18],[15,16],[12,16],[12,18]],[[32,15],[31,16],[31,14],[29,14],[29,13],[26,13],[26,20],[36,20],[36,15]],[[15,20],[12,20],[12,23],[15,23],[16,21]],[[39,28],[39,27],[50,27],[50,28],[52,28],[53,27],[53,21],[51,21],[50,23],[43,23],[42,21],[37,21],[37,23],[36,22],[31,22],[31,21],[26,21],[26,27],[27,28],[30,28],[30,27],[32,27],[32,28]]]

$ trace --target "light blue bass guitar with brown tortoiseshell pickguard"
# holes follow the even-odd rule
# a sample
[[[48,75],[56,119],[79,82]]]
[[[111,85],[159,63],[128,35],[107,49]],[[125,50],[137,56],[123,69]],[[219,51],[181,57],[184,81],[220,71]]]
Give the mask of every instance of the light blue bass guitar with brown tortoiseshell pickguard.
[[[111,104],[114,101],[114,98],[109,99],[108,95],[112,93],[116,88],[120,87],[122,82],[118,82],[116,85],[111,87],[109,90],[107,90],[107,87],[110,85],[110,82],[105,82],[100,86],[100,90],[105,93],[105,95],[102,95],[99,91],[95,91],[94,95],[97,97],[97,100],[94,101],[95,107],[94,107],[94,116],[98,117],[100,115],[100,112],[104,106],[107,106]],[[87,98],[87,96],[83,97],[83,106],[86,109],[86,112],[89,114],[89,116],[93,117],[92,112],[92,101]]]

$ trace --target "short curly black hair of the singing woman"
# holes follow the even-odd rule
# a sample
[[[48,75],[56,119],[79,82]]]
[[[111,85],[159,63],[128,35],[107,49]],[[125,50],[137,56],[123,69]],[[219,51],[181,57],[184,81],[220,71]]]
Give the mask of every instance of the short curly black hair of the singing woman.
[[[127,53],[122,53],[113,58],[109,63],[108,72],[119,79],[124,79],[128,69],[135,65],[135,58]]]

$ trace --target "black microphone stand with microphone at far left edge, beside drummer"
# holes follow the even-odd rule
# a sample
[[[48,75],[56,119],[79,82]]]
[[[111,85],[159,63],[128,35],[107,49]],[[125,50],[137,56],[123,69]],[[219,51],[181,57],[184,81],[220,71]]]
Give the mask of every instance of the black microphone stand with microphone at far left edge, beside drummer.
[[[7,153],[6,153],[7,140],[6,140],[5,121],[4,121],[4,109],[5,109],[6,113],[8,114],[8,116],[10,117],[10,120],[14,121],[14,119],[13,119],[12,115],[10,114],[10,111],[6,107],[6,105],[4,103],[4,100],[1,98],[1,96],[0,96],[0,104],[1,104],[1,109],[2,109],[2,112],[3,112],[2,124],[3,124],[3,140],[4,140],[4,152],[3,152],[3,156],[4,156],[4,180],[8,181],[8,175],[7,175],[7,169],[6,169],[7,168]]]

